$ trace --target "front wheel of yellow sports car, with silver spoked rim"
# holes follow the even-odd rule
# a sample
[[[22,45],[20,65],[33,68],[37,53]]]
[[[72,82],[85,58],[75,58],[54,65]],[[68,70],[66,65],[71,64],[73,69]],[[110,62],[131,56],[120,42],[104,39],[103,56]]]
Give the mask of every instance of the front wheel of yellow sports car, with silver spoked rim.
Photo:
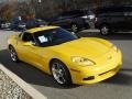
[[[61,61],[53,61],[51,63],[51,72],[55,81],[61,86],[72,85],[72,77],[66,65]]]

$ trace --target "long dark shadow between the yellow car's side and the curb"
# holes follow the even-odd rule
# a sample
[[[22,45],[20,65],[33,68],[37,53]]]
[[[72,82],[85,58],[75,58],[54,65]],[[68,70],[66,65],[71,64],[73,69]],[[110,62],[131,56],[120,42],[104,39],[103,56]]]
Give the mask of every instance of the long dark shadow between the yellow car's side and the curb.
[[[16,76],[22,78],[24,81],[32,84],[32,85],[40,85],[45,87],[54,87],[59,89],[69,89],[69,88],[76,88],[78,85],[72,85],[68,87],[59,86],[56,84],[56,81],[53,79],[52,76],[43,73],[42,70],[26,64],[23,62],[20,63],[13,63],[10,58],[10,54],[7,50],[0,51],[0,63],[14,73]]]

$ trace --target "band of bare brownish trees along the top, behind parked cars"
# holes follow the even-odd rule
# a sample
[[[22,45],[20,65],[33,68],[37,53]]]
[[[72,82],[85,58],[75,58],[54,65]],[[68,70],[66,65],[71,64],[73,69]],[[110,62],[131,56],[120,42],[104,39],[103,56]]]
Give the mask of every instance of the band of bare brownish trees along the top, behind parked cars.
[[[0,18],[2,19],[9,19],[11,15],[28,14],[35,14],[36,18],[41,19],[51,19],[63,11],[132,4],[132,0],[23,0],[21,2],[18,2],[18,0],[10,0],[10,2],[7,2],[6,4],[11,6],[11,9],[3,10],[3,8],[0,8]],[[0,7],[4,6],[1,4]],[[10,16],[3,16],[3,13],[8,13]]]

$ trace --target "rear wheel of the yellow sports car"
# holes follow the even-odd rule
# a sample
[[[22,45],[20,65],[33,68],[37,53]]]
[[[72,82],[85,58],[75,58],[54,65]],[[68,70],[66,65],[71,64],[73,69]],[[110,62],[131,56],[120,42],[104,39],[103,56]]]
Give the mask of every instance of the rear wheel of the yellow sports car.
[[[12,62],[18,63],[19,58],[18,58],[18,54],[16,54],[14,47],[10,46],[9,52],[10,52],[10,57],[11,57]]]

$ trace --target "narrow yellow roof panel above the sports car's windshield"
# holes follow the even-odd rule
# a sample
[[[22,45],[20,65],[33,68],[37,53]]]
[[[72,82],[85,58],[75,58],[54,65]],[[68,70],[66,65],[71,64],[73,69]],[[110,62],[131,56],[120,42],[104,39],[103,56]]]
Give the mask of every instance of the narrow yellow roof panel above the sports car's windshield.
[[[57,29],[57,28],[59,26],[41,26],[41,28],[33,28],[33,29],[26,30],[25,32],[35,33],[35,32],[46,31],[46,30],[52,30],[52,29]]]

